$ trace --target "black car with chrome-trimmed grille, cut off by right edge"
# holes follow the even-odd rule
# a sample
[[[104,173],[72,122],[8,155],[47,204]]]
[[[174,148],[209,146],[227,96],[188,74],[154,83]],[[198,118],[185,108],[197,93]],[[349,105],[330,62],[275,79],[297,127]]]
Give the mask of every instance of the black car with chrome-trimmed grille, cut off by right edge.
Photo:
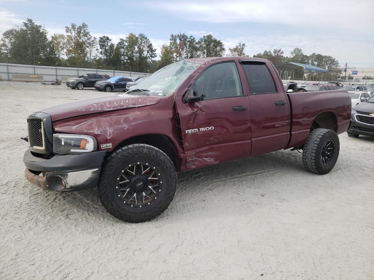
[[[352,108],[349,137],[374,136],[374,96],[361,98],[360,104]]]

